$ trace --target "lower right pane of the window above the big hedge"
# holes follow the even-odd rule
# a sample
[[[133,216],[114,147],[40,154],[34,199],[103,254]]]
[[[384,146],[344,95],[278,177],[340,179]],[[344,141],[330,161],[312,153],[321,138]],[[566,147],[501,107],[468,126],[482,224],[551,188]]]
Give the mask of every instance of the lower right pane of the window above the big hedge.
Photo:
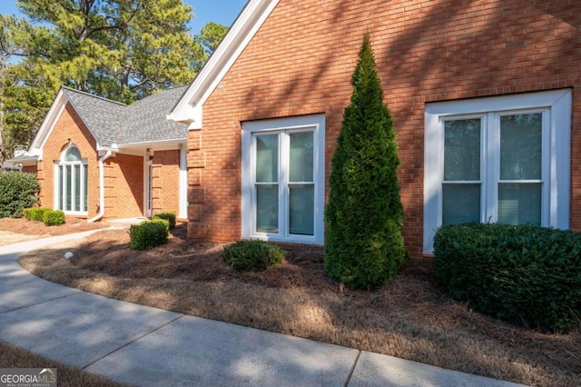
[[[498,184],[498,223],[541,224],[542,184]]]

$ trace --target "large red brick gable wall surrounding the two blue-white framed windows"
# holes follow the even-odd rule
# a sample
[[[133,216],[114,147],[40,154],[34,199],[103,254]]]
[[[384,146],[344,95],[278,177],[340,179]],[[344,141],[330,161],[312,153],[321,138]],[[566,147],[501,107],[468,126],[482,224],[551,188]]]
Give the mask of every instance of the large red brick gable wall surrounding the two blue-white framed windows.
[[[190,133],[189,235],[241,236],[243,121],[324,113],[328,183],[366,32],[399,134],[412,256],[422,248],[427,102],[573,88],[570,216],[581,230],[580,25],[579,1],[281,0],[204,104],[202,130]]]

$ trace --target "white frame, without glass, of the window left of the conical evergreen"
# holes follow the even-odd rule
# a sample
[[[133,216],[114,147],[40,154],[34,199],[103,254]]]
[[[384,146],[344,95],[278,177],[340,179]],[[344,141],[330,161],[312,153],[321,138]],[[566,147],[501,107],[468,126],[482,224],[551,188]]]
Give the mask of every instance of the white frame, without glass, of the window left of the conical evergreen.
[[[288,159],[285,144],[279,145],[279,230],[277,233],[261,233],[256,231],[256,191],[254,188],[256,164],[254,134],[289,134],[313,132],[313,182],[314,197],[314,229],[313,235],[289,233],[289,195],[285,176],[288,176],[286,162]],[[281,136],[282,143],[287,139]],[[244,239],[260,239],[283,243],[324,243],[324,202],[325,202],[325,115],[311,114],[298,117],[277,118],[262,121],[242,123],[242,195],[241,195],[241,237]],[[282,176],[282,179],[281,179]]]

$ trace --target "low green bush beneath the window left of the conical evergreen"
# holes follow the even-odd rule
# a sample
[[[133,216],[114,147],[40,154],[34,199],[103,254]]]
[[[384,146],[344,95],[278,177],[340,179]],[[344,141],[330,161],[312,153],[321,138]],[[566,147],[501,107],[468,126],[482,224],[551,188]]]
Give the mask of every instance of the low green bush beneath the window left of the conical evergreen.
[[[224,247],[222,260],[238,272],[261,272],[281,263],[285,251],[264,241],[239,241]]]

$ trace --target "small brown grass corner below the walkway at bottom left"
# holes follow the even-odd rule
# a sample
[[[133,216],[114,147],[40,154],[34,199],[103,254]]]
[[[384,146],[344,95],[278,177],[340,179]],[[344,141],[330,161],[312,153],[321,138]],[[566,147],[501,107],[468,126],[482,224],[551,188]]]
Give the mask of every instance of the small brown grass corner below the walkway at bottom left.
[[[116,387],[122,386],[102,376],[84,372],[61,362],[22,350],[6,342],[0,342],[0,368],[56,368],[59,386]]]

